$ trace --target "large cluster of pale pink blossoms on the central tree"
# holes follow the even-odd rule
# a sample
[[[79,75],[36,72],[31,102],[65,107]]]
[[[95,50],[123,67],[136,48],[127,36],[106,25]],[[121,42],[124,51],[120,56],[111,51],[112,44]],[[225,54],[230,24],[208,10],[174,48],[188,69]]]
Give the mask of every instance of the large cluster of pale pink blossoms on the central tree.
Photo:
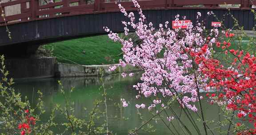
[[[153,104],[148,107],[148,110],[151,110],[161,103],[161,98],[181,95],[177,98],[180,105],[188,107],[192,111],[197,111],[194,105],[198,101],[197,87],[205,89],[207,78],[199,73],[201,64],[199,64],[199,67],[193,66],[193,60],[188,52],[200,52],[204,44],[210,42],[209,44],[212,45],[216,42],[214,38],[209,41],[208,38],[203,36],[205,27],[203,22],[199,21],[201,13],[197,13],[198,21],[195,26],[190,23],[187,29],[178,28],[173,30],[169,27],[170,23],[168,21],[159,24],[159,28],[156,29],[151,22],[147,23],[145,21],[146,18],[138,2],[136,0],[132,0],[132,2],[138,8],[140,16],[138,22],[135,22],[133,12],[128,14],[121,4],[118,5],[124,16],[129,18],[128,22],[122,22],[124,32],[125,35],[128,35],[129,28],[135,29],[136,35],[143,42],[134,44],[132,39],[123,40],[117,33],[110,31],[107,27],[105,27],[105,31],[108,32],[110,39],[119,41],[123,45],[121,49],[124,60],[120,60],[121,66],[129,64],[143,70],[140,83],[133,85],[138,91],[136,98],[156,97],[157,100],[154,100]],[[180,20],[179,17],[180,15],[176,16],[176,21]],[[185,18],[184,16],[183,19]],[[213,29],[210,34],[217,37],[218,30]],[[209,46],[202,55],[208,58],[211,51],[212,47]],[[126,74],[123,73],[122,76],[125,77]],[[164,103],[160,105],[162,107],[166,106]],[[140,108],[139,105],[136,105],[136,107]]]

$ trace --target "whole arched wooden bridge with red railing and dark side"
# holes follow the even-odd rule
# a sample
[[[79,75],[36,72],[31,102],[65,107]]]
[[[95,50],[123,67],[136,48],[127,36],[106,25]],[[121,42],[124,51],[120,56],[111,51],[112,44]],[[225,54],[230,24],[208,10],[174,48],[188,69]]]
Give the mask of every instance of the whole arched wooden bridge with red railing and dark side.
[[[116,3],[127,11],[136,11],[131,1],[120,0],[3,0],[0,4],[0,53],[20,55],[30,53],[35,46],[58,40],[103,34],[104,26],[114,32],[122,32],[121,15]],[[211,28],[213,17],[206,17],[208,11],[224,19],[224,25],[232,28],[233,19],[224,4],[237,5],[230,13],[244,29],[251,30],[255,24],[251,9],[256,0],[138,0],[147,17],[155,26],[172,21],[177,14],[195,22],[196,13],[201,12],[206,27]],[[197,5],[197,6],[195,6]],[[200,5],[200,6],[198,6]],[[136,15],[137,16],[137,15]],[[6,26],[11,32],[9,39]],[[13,52],[13,47],[17,50]]]

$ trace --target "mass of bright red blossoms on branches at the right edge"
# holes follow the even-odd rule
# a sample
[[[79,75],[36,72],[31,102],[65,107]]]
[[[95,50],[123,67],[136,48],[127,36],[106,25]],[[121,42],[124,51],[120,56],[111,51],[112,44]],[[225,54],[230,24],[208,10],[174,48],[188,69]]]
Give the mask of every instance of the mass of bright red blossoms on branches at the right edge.
[[[232,38],[234,34],[226,32],[227,38]],[[256,57],[251,56],[249,52],[244,54],[243,50],[228,49],[230,42],[217,42],[220,47],[235,58],[230,67],[224,67],[219,60],[214,58],[205,58],[204,54],[208,49],[208,44],[200,49],[199,52],[190,52],[194,57],[196,64],[200,66],[201,73],[209,79],[208,87],[222,91],[218,95],[218,102],[225,103],[228,110],[236,111],[237,118],[243,121],[253,123],[254,128],[239,132],[237,135],[255,135],[256,134]],[[207,96],[209,96],[207,94]],[[215,97],[212,94],[212,97]],[[240,123],[237,123],[240,125]],[[246,133],[246,134],[244,134]]]

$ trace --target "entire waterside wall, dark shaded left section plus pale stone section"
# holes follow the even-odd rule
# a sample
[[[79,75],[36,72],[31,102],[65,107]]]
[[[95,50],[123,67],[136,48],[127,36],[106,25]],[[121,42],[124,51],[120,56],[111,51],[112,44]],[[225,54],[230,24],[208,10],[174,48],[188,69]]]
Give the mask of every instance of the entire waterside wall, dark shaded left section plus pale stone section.
[[[108,71],[112,65],[73,65],[57,63],[56,58],[28,58],[28,59],[8,59],[5,60],[7,70],[10,72],[8,78],[14,79],[34,79],[46,77],[80,77],[99,76],[100,69],[104,75],[122,72],[140,71],[137,67],[126,66],[117,67],[113,72]],[[1,75],[0,75],[1,77]]]

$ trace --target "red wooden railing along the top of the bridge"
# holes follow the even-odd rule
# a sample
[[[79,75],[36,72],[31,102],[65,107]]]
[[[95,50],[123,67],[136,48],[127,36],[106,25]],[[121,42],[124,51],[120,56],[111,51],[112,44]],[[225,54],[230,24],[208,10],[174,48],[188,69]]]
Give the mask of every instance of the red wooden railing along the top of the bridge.
[[[120,1],[120,0],[118,0]],[[250,9],[256,4],[256,0],[138,0],[142,9],[186,9],[188,5],[204,5],[204,8],[220,8],[220,4],[238,4],[236,9]],[[62,0],[59,2],[48,2],[40,5],[39,0],[15,0],[1,4],[3,12],[7,14],[7,8],[16,5],[16,13],[5,16],[8,24],[20,23],[31,20],[41,20],[52,17],[72,16],[77,14],[92,14],[100,12],[118,12],[116,0],[95,0],[88,4],[87,0]],[[131,1],[122,1],[126,10],[136,10]],[[18,6],[17,6],[18,5]],[[11,10],[12,11],[12,10]],[[9,11],[10,12],[10,11]],[[4,24],[3,17],[0,17],[0,25]]]

